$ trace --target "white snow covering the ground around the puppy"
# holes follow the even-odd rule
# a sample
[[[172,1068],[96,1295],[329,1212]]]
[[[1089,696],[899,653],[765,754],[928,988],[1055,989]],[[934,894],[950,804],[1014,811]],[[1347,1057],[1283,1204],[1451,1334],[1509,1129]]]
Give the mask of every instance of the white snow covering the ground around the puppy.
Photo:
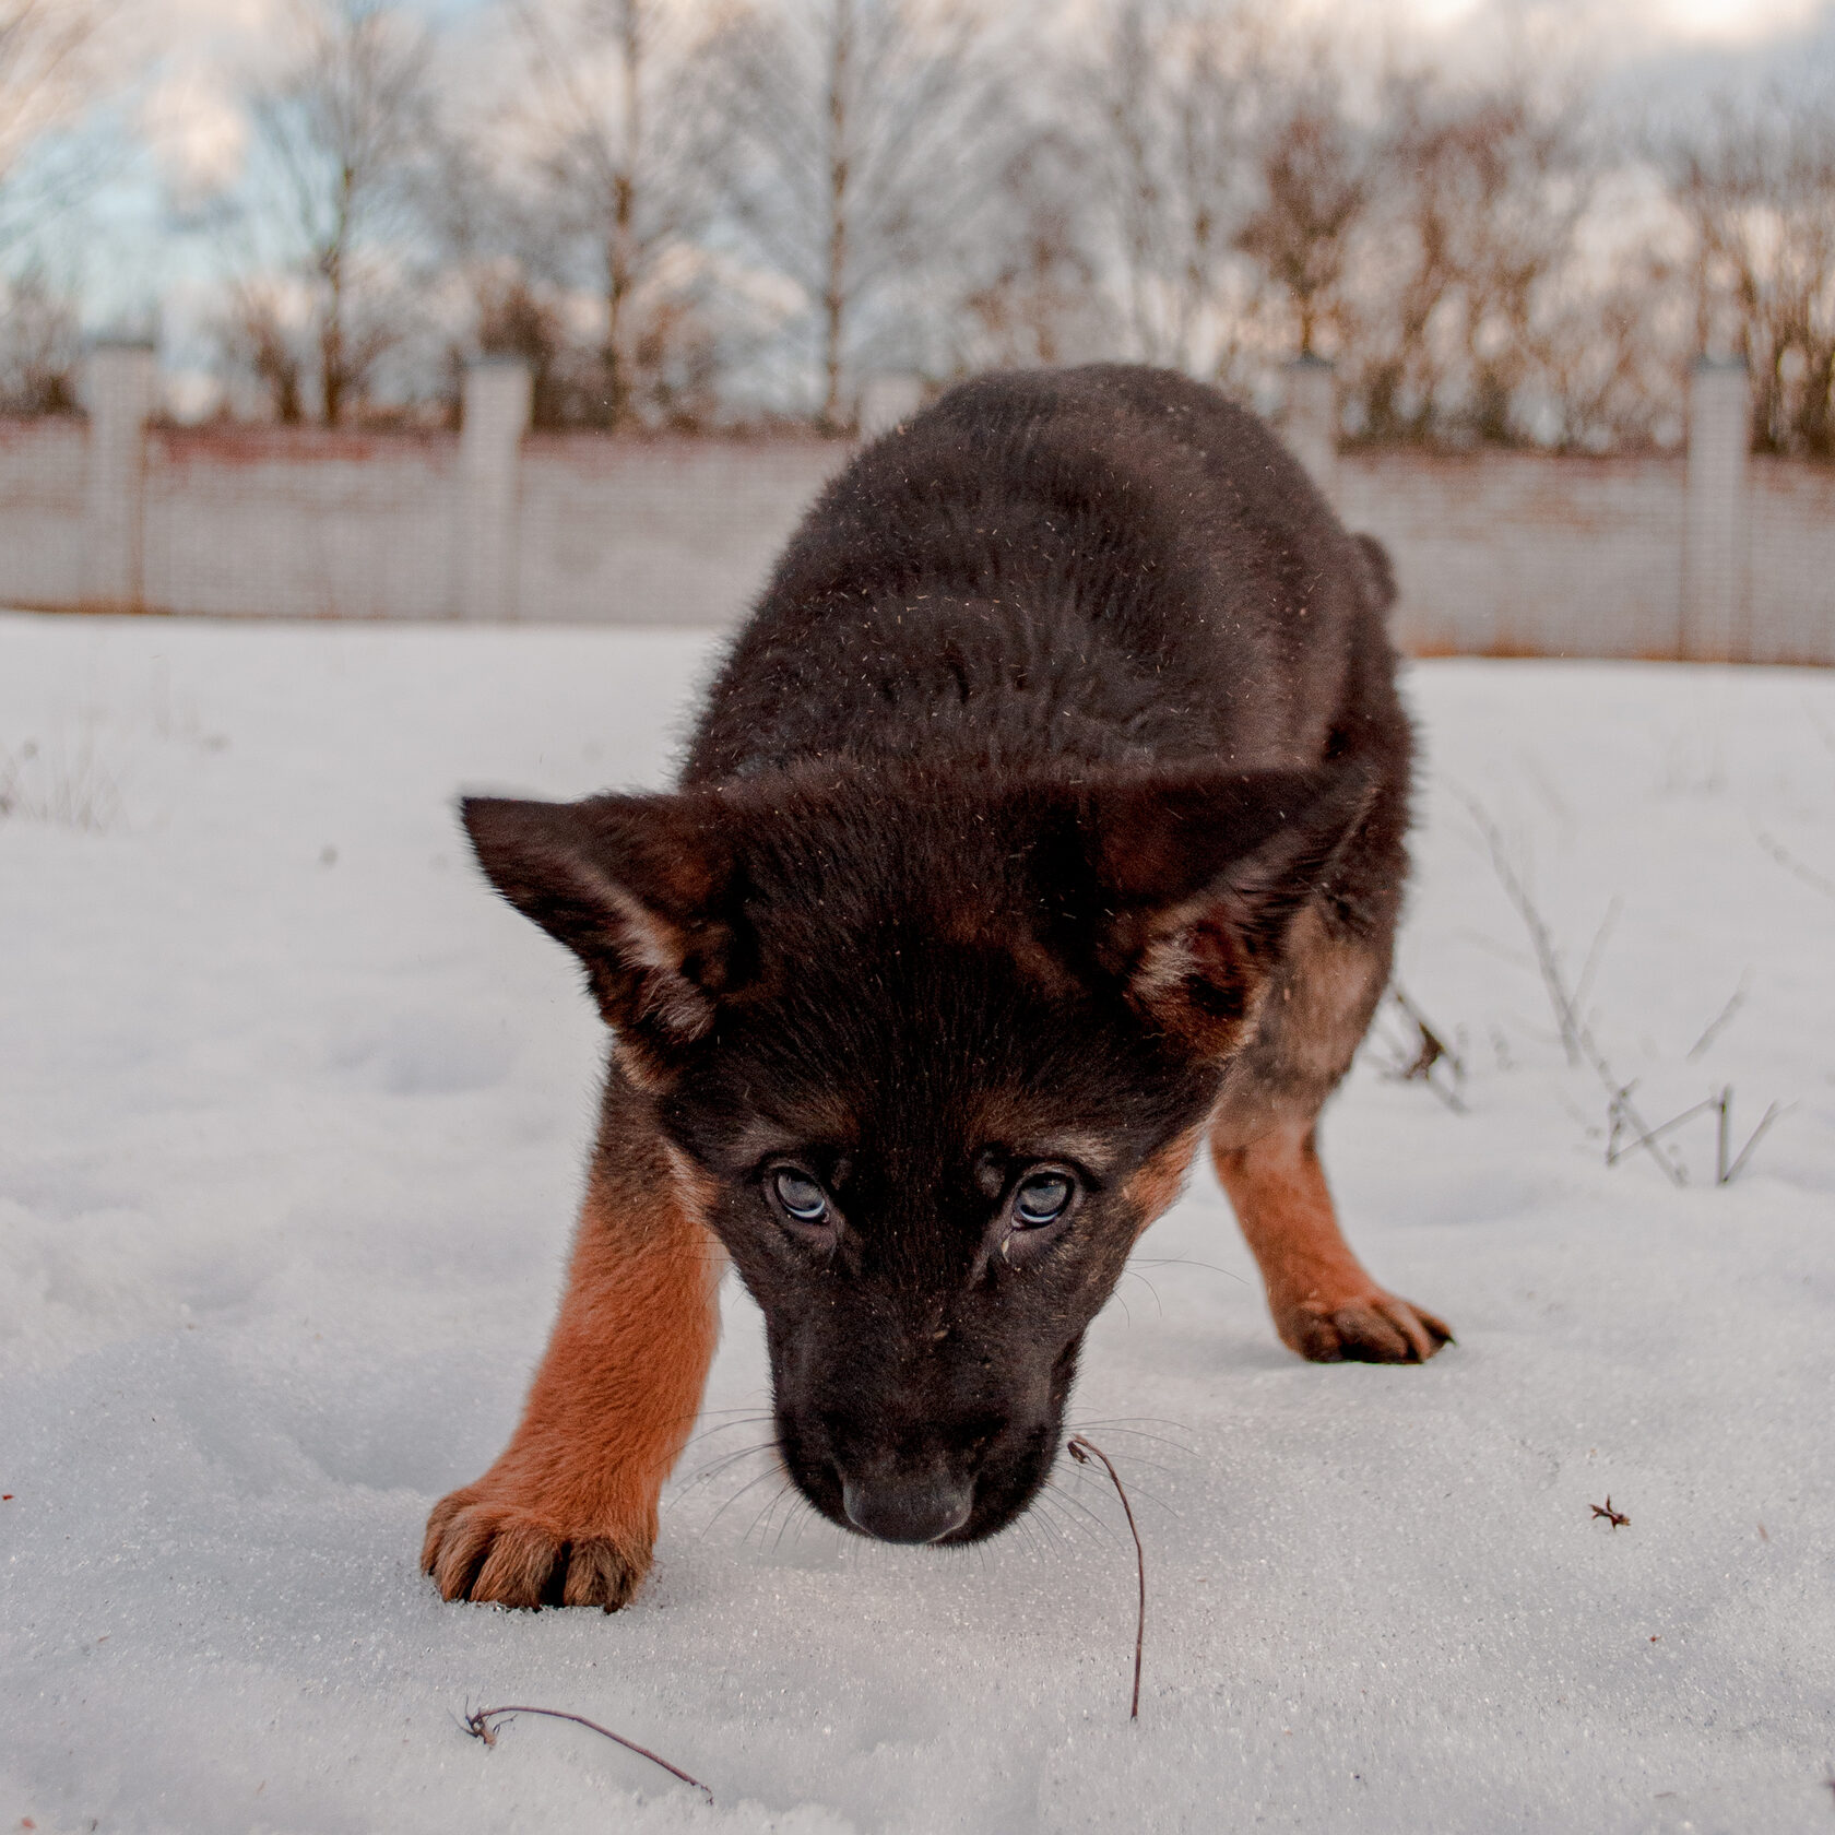
[[[600,1050],[450,798],[661,782],[708,657],[0,620],[0,1828],[1835,1828],[1826,675],[1411,672],[1402,980],[1466,1112],[1380,1073],[1391,1026],[1327,1145],[1459,1345],[1290,1358],[1195,1178],[1075,1407],[1147,1540],[1140,1725],[1112,1494],[1066,1468],[982,1551],[840,1538],[769,1477],[740,1292],[637,1606],[435,1598],[422,1518],[541,1347]],[[1793,1105],[1734,1184],[1712,1118],[1681,1189],[1607,1169],[1461,793],[1569,976],[1618,901],[1585,1009],[1650,1123],[1730,1084],[1738,1147]],[[455,1723],[506,1701],[714,1807]]]

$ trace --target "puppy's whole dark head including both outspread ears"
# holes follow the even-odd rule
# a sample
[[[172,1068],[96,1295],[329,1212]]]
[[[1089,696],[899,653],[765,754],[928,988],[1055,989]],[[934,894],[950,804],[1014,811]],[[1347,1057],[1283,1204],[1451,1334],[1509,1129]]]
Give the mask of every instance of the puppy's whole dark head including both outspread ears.
[[[784,1461],[888,1541],[1011,1521],[1171,1202],[1349,773],[468,800],[765,1314]]]

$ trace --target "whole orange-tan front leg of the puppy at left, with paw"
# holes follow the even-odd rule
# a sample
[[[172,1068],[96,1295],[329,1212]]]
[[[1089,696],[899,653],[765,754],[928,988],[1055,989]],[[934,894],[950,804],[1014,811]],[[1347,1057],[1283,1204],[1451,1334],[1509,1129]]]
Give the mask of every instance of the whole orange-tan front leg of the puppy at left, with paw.
[[[692,1171],[617,1059],[567,1288],[523,1420],[428,1518],[450,1598],[624,1606],[650,1571],[657,1496],[701,1406],[725,1251]]]

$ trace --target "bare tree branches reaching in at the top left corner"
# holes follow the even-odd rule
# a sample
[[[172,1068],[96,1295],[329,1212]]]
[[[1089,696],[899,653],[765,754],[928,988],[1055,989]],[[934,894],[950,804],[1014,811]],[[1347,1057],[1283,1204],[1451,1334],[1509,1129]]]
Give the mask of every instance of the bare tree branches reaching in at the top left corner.
[[[94,180],[94,161],[26,172],[28,156],[95,95],[94,51],[114,0],[0,0],[0,250]]]

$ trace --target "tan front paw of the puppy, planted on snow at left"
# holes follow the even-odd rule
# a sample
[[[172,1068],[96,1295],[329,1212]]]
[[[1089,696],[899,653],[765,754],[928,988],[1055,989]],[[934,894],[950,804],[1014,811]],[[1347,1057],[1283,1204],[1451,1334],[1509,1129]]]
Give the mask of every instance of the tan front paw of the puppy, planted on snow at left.
[[[653,1530],[569,1532],[486,1477],[433,1507],[420,1571],[448,1600],[617,1611],[650,1573],[653,1541]]]

